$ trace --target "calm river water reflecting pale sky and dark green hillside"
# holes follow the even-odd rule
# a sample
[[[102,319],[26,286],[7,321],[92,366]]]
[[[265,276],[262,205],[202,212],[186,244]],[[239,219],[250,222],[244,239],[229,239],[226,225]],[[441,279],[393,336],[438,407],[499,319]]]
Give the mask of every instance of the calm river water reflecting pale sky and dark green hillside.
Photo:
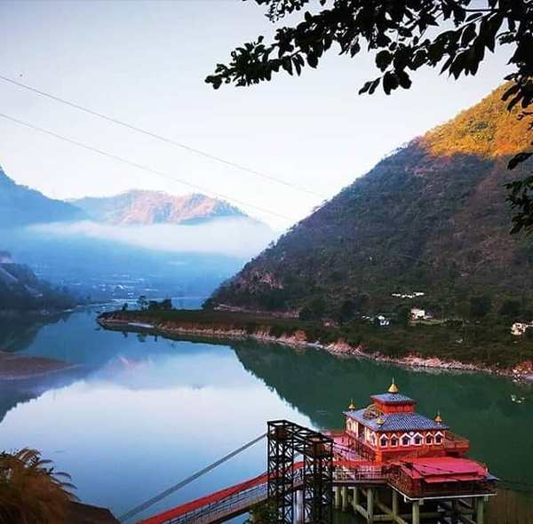
[[[19,354],[84,366],[46,382],[1,383],[0,448],[40,449],[72,475],[84,502],[115,515],[264,433],[269,418],[341,427],[350,399],[367,405],[393,375],[403,393],[418,399],[418,411],[433,417],[440,409],[446,424],[473,441],[471,455],[491,472],[524,483],[520,488],[533,485],[528,385],[314,349],[123,334],[99,329],[96,316],[95,310],[70,314],[26,329],[10,345]],[[265,457],[262,441],[148,513],[257,475]]]

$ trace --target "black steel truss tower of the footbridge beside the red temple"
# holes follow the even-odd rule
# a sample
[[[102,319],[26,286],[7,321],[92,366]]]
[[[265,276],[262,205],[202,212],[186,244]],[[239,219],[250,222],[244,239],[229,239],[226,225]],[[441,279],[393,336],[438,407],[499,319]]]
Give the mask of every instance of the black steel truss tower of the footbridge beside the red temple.
[[[288,420],[268,423],[268,501],[276,524],[294,522],[297,489],[303,493],[304,524],[330,524],[333,516],[333,441]],[[294,469],[294,459],[302,468]]]

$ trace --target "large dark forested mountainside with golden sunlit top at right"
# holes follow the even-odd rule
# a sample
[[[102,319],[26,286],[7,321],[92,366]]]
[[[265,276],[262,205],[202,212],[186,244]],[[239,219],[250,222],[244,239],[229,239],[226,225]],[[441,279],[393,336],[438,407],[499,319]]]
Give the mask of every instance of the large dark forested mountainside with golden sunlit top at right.
[[[384,158],[216,290],[213,305],[335,314],[401,303],[451,315],[479,295],[493,308],[529,304],[533,242],[509,234],[503,185],[527,172],[506,163],[531,138],[507,113],[505,89]],[[415,291],[424,296],[392,297]]]

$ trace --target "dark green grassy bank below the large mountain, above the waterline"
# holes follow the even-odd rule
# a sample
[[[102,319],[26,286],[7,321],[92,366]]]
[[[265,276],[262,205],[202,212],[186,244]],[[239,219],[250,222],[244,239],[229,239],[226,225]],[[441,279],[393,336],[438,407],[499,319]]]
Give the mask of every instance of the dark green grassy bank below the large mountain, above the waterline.
[[[292,338],[298,343],[324,346],[342,341],[374,357],[459,361],[499,370],[512,369],[533,359],[533,339],[513,337],[508,327],[501,325],[447,322],[380,328],[366,322],[348,322],[324,326],[322,322],[267,314],[195,310],[117,311],[102,314],[99,322],[104,325],[138,322],[167,332],[213,332],[213,335],[233,332],[234,335]]]

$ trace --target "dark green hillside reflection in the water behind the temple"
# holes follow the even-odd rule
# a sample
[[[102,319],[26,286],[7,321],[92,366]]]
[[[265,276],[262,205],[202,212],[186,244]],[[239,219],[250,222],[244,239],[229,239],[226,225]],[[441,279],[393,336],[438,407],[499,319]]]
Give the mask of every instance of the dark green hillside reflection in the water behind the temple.
[[[341,427],[351,398],[358,407],[383,391],[394,376],[402,392],[418,400],[417,410],[434,417],[473,443],[471,455],[503,479],[533,484],[533,393],[503,377],[485,374],[413,371],[375,362],[338,359],[314,349],[235,344],[245,369],[320,428]],[[523,398],[521,403],[513,401]]]

